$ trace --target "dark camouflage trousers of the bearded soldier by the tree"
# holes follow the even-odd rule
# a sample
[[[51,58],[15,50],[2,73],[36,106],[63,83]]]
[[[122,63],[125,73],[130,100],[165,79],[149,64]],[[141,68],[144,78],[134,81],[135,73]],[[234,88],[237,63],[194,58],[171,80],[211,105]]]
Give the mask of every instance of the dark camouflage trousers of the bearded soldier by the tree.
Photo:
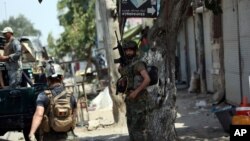
[[[135,100],[126,100],[126,116],[130,141],[152,141],[147,127],[147,95],[147,93],[142,93]]]

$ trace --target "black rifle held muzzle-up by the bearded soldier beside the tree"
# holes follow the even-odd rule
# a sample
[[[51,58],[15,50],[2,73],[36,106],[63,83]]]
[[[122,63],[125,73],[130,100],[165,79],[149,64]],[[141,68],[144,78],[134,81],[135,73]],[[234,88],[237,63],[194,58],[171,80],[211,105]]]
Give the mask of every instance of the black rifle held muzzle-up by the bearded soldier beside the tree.
[[[117,36],[116,31],[115,31],[115,36],[117,39],[117,47],[113,48],[113,50],[118,49],[119,54],[120,54],[120,58],[114,59],[114,63],[115,64],[120,63],[121,66],[126,66],[128,64],[128,59],[126,58],[125,52],[122,48],[122,45],[121,45],[120,41],[118,40],[118,36]]]

